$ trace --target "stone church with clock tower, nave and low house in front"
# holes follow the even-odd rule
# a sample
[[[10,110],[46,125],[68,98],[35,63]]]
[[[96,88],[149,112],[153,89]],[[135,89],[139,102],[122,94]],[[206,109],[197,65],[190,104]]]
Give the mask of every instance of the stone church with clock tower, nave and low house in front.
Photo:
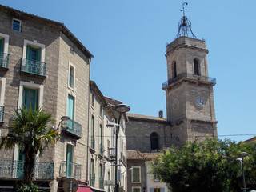
[[[193,34],[183,9],[178,34],[166,46],[168,80],[162,83],[166,118],[162,111],[158,117],[128,114],[127,160],[128,169],[133,168],[127,177],[128,192],[167,190],[147,174],[145,162],[155,158],[158,150],[195,139],[202,141],[206,135],[217,137],[213,92],[216,79],[209,77],[207,54],[206,42]]]

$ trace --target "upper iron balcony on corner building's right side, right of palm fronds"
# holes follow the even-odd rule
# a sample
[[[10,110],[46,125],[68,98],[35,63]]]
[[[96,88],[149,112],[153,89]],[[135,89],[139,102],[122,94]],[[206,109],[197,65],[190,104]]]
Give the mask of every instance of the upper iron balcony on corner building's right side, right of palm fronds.
[[[62,131],[66,134],[71,134],[74,138],[80,139],[82,135],[82,125],[70,119],[62,122]]]

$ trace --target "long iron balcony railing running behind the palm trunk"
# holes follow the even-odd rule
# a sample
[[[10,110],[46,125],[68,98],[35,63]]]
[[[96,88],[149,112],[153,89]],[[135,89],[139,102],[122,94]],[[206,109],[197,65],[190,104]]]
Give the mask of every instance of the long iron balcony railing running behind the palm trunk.
[[[23,178],[24,161],[0,159],[0,178]],[[33,178],[53,179],[54,162],[35,162]]]

